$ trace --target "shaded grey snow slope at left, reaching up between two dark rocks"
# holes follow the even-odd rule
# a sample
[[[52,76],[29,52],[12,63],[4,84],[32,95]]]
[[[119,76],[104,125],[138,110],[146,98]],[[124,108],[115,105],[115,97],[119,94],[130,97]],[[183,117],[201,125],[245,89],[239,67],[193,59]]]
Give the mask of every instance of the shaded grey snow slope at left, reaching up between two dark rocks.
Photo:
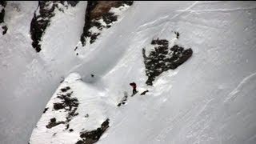
[[[0,34],[0,143],[29,142],[30,134],[61,77],[68,74],[68,66],[78,62],[72,61],[75,57],[69,52],[73,51],[82,34],[86,2],[79,2],[64,14],[55,14],[49,31],[46,30],[42,38],[40,54],[36,54],[30,38],[30,22],[37,6],[38,2],[6,2],[4,22],[8,30],[6,34]],[[62,49],[62,54],[58,48]]]

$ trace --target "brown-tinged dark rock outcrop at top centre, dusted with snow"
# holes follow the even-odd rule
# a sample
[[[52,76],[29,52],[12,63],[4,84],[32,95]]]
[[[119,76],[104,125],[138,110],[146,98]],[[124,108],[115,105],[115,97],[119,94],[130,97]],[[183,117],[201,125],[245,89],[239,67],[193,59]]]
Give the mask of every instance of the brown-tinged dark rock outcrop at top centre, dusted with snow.
[[[86,45],[86,40],[90,39],[90,44],[94,43],[100,33],[90,31],[93,26],[98,30],[103,28],[110,28],[112,22],[118,20],[117,15],[110,13],[111,7],[118,8],[120,6],[131,6],[133,1],[88,1],[86,7],[85,26],[80,38],[82,46]],[[102,19],[106,26],[103,26],[99,20]],[[88,39],[87,39],[88,38]],[[75,49],[76,50],[76,49]]]

